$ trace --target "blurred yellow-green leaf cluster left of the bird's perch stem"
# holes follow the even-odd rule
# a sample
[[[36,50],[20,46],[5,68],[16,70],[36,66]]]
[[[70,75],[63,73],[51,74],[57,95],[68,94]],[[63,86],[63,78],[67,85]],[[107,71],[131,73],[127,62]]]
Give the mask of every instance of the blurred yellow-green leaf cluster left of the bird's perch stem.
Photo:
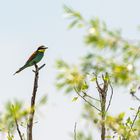
[[[7,102],[5,105],[5,112],[0,117],[0,130],[7,133],[8,137],[13,134],[16,129],[15,117],[21,121],[28,114],[28,109],[23,108],[21,101]]]

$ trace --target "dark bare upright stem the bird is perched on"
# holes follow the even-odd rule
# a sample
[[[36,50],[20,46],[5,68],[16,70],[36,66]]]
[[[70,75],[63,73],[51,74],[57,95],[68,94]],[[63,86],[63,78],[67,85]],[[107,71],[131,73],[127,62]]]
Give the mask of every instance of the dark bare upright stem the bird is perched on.
[[[34,87],[33,87],[33,93],[31,98],[31,106],[30,106],[30,113],[27,123],[27,140],[32,140],[32,128],[33,128],[33,120],[34,120],[34,113],[35,113],[35,99],[36,99],[36,93],[38,88],[38,78],[39,78],[39,68],[35,64],[35,79],[34,79]]]

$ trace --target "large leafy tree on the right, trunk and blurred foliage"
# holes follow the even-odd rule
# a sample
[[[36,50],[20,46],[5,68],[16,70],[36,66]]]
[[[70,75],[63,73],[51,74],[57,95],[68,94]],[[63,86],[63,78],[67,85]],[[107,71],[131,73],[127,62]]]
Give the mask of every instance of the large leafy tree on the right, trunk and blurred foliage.
[[[139,81],[137,65],[140,59],[139,42],[124,39],[119,30],[108,29],[105,22],[98,18],[85,20],[80,12],[67,6],[64,6],[64,11],[71,19],[68,26],[70,29],[73,27],[85,28],[84,42],[90,51],[82,56],[80,65],[71,65],[64,60],[56,62],[59,69],[57,88],[65,89],[66,93],[75,92],[77,96],[73,98],[73,101],[79,97],[85,101],[83,116],[87,121],[96,124],[101,132],[102,140],[114,137],[123,140],[138,139],[140,136],[140,127],[137,125],[139,124],[139,108],[133,109],[136,114],[134,120],[130,117],[125,120],[125,113],[113,117],[106,111],[111,104],[114,86],[125,87],[136,83],[136,89],[132,86],[130,93],[137,97],[132,91],[137,90]],[[109,91],[111,92],[109,98],[107,98],[108,86],[110,86]],[[96,88],[99,99],[93,97]],[[137,99],[139,98],[137,97]],[[108,107],[106,108],[107,100]],[[96,113],[95,110],[99,113]],[[77,137],[77,139],[81,138]],[[88,140],[88,138],[85,139]],[[89,139],[92,139],[91,136]]]

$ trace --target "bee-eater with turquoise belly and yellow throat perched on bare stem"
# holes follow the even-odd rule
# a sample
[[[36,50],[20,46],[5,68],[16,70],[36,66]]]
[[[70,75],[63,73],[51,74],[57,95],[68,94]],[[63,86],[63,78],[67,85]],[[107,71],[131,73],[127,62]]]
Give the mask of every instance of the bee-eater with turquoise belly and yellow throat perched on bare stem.
[[[48,47],[45,47],[43,45],[38,47],[38,49],[29,57],[27,62],[24,64],[24,66],[22,66],[18,71],[16,71],[14,73],[14,75],[16,73],[21,72],[22,70],[24,70],[27,67],[30,67],[30,66],[33,66],[34,64],[37,64],[43,58],[44,52],[46,49],[48,49]]]

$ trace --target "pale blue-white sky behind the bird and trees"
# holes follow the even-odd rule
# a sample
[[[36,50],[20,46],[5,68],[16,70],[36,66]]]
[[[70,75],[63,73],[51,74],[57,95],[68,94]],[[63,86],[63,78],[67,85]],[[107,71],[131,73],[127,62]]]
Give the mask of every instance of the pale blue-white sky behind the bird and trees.
[[[34,140],[71,140],[74,123],[82,123],[80,100],[73,103],[71,96],[55,89],[55,60],[63,58],[70,63],[86,52],[84,32],[68,30],[63,5],[80,11],[87,19],[99,17],[111,29],[121,29],[126,39],[139,39],[139,0],[0,0],[0,105],[19,99],[29,105],[32,93],[32,68],[20,74],[13,73],[22,66],[39,45],[49,47],[41,62],[46,63],[39,78],[37,99],[48,95],[48,103],[37,112]],[[136,107],[138,103],[127,93],[115,93],[110,111],[117,114]],[[80,126],[78,126],[80,127]]]

